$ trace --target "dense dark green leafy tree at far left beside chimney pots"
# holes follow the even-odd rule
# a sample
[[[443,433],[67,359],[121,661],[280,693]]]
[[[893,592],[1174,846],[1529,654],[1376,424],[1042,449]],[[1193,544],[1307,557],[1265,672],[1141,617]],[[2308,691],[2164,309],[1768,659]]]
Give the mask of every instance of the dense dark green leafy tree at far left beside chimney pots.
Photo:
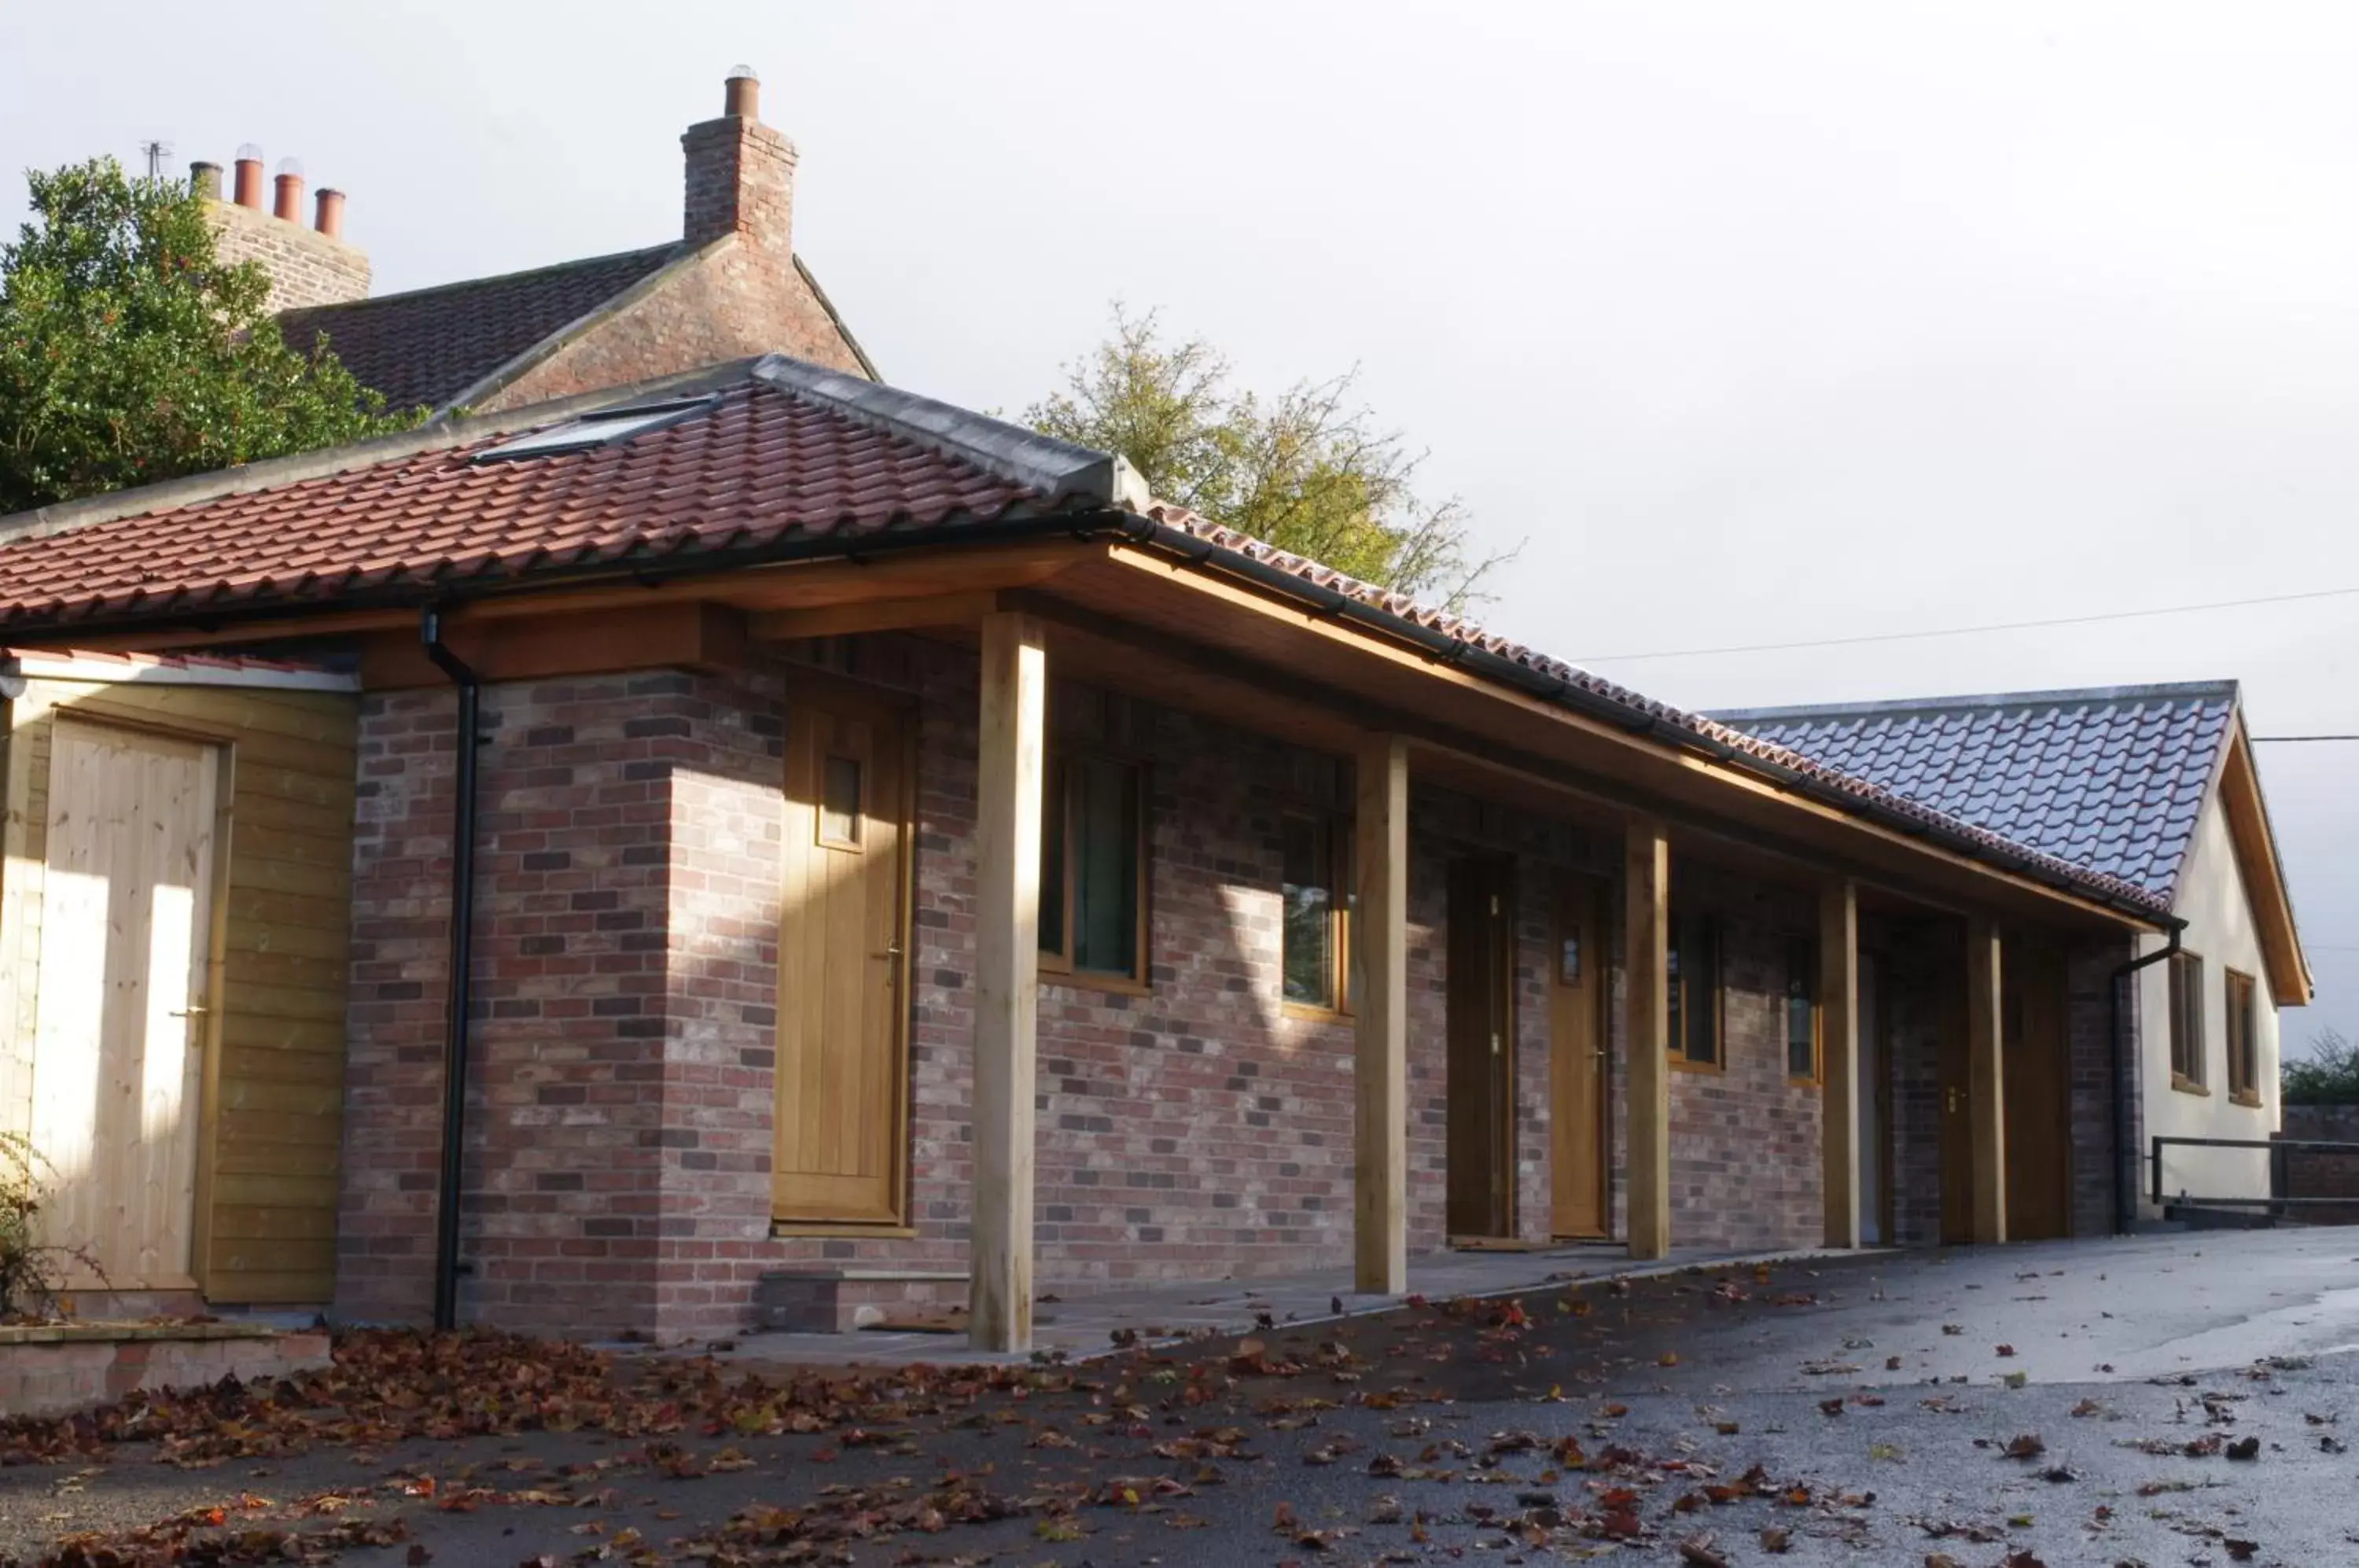
[[[413,424],[326,349],[297,354],[269,278],[215,252],[177,182],[113,158],[28,172],[0,248],[0,514]]]

